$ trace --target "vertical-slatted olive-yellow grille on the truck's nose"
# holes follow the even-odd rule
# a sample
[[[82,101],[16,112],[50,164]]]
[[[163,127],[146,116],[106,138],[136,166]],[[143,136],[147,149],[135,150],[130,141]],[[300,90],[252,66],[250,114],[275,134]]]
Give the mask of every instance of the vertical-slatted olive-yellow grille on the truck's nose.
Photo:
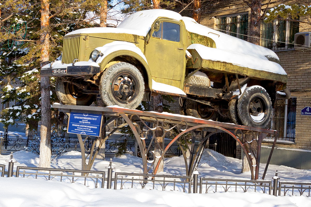
[[[69,64],[79,55],[81,36],[64,38],[62,63]]]

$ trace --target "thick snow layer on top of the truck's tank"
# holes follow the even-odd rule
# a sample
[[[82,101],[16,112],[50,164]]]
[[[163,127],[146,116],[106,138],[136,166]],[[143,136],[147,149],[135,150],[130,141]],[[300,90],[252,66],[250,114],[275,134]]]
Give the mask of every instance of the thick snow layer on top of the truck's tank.
[[[249,43],[245,40],[233,37],[229,34],[222,33],[215,29],[198,24],[194,19],[183,17],[182,20],[189,32],[197,33],[213,39],[216,43],[216,48],[224,51],[237,53],[244,56],[251,56],[268,60],[265,56],[272,56],[279,60],[278,56],[272,50],[265,47]]]

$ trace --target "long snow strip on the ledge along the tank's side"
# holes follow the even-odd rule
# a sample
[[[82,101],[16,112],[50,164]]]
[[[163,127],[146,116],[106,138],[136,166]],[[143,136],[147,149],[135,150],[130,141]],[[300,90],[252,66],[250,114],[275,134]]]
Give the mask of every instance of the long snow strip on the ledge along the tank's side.
[[[263,70],[267,72],[286,75],[286,72],[281,67],[281,65],[272,61],[268,61],[267,58],[266,60],[264,60],[258,58],[257,56],[250,56],[248,54],[238,54],[223,49],[206,47],[201,44],[192,44],[189,47],[187,47],[187,49],[195,49],[199,53],[199,55],[206,60],[227,62],[232,63],[233,65],[239,65],[242,67],[252,68],[255,70]]]

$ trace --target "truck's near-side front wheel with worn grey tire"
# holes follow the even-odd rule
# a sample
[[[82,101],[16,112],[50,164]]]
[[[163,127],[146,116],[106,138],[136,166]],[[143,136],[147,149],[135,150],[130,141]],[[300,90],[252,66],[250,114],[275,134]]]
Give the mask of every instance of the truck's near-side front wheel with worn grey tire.
[[[107,106],[136,109],[142,102],[145,83],[139,70],[129,63],[109,66],[100,78],[100,97]]]

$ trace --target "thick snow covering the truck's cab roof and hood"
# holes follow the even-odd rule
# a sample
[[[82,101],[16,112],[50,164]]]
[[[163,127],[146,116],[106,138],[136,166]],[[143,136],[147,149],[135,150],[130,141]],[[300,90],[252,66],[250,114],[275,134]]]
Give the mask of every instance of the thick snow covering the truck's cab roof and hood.
[[[146,36],[148,31],[151,29],[153,22],[159,17],[167,17],[174,20],[181,20],[182,16],[174,11],[169,11],[165,9],[151,9],[138,11],[130,16],[118,25],[117,28],[112,27],[95,27],[95,28],[85,28],[72,31],[67,35],[72,34],[91,34],[91,33],[127,33],[136,34],[140,36]]]

